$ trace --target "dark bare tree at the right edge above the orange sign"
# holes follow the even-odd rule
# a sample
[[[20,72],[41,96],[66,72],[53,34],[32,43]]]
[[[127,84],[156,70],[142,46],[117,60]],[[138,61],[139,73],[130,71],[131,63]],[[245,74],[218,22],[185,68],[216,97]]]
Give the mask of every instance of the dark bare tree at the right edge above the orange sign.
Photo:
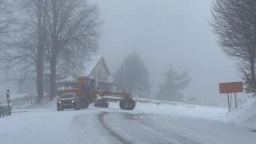
[[[256,92],[256,1],[215,0],[212,14],[221,49],[239,61],[247,92]]]

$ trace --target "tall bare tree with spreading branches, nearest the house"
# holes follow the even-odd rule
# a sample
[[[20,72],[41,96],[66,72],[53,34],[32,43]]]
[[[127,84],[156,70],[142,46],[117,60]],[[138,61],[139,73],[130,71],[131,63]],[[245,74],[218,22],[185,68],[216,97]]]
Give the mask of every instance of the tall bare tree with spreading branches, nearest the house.
[[[57,62],[63,50],[86,57],[98,48],[99,10],[85,0],[50,0],[45,9],[49,26],[50,99],[56,94]],[[82,57],[81,57],[82,58]]]

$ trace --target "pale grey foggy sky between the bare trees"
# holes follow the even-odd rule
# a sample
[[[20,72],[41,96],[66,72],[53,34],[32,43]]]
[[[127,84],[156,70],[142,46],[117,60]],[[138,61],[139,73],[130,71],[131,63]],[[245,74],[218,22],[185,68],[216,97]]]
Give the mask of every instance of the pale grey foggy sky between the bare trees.
[[[99,53],[112,73],[129,53],[137,52],[151,83],[163,81],[168,65],[187,70],[192,82],[185,97],[216,98],[221,81],[240,81],[234,61],[220,50],[212,33],[211,0],[95,0],[102,39]]]

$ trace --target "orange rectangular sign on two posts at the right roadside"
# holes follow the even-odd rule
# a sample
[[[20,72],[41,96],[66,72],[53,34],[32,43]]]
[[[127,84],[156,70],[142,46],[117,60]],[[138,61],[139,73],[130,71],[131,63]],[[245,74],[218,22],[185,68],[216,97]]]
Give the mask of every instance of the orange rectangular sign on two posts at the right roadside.
[[[235,106],[237,108],[237,93],[244,92],[243,82],[230,82],[230,83],[220,83],[220,94],[227,94],[227,103],[230,111],[230,103],[232,102],[232,93],[235,95]]]

